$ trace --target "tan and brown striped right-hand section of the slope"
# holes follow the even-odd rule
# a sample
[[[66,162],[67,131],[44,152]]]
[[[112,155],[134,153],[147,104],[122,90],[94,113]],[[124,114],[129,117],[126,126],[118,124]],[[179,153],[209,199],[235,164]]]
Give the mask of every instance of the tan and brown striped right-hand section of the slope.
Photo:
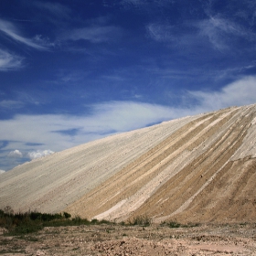
[[[255,144],[246,146],[254,119],[255,106],[197,117],[67,210],[98,219],[255,220]]]

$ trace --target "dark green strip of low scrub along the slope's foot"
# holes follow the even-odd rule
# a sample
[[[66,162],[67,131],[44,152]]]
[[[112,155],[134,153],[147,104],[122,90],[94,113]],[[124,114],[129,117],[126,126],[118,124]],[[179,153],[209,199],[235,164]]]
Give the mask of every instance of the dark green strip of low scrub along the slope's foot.
[[[11,236],[24,236],[29,233],[37,232],[44,227],[65,227],[65,226],[80,226],[80,225],[117,225],[117,223],[106,219],[81,219],[80,216],[71,218],[67,212],[63,213],[40,213],[37,211],[29,211],[26,213],[14,213],[10,207],[5,207],[4,210],[0,209],[0,227],[5,228],[7,232],[5,235]],[[121,222],[121,226],[151,226],[153,219],[147,215],[141,215],[128,220],[128,223]],[[198,224],[183,225],[175,221],[162,222],[160,226],[167,226],[169,228],[189,228],[195,227]],[[110,229],[106,229],[109,232]]]

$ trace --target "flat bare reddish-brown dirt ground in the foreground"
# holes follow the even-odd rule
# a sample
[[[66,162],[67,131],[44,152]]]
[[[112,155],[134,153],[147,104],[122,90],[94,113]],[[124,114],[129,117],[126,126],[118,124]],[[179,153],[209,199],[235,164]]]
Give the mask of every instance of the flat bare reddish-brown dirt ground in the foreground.
[[[171,229],[121,225],[45,228],[9,237],[0,230],[0,255],[256,255],[256,224]]]

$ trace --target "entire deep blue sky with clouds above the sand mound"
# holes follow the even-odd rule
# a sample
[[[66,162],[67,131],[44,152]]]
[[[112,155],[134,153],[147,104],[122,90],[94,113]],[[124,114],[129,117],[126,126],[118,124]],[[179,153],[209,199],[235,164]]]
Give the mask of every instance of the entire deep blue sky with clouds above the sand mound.
[[[0,170],[255,103],[255,26],[255,0],[1,0]]]

